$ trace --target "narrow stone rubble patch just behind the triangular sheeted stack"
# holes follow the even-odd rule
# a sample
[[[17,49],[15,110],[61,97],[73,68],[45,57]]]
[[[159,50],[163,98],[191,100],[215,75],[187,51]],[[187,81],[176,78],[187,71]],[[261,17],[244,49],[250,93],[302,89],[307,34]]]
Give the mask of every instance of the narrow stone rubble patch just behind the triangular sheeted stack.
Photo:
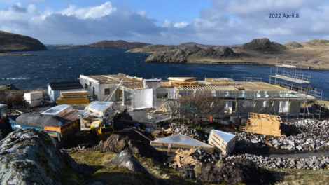
[[[171,123],[169,127],[172,128],[174,134],[181,133],[182,135],[186,135],[193,139],[198,139],[200,141],[207,142],[207,135],[197,131],[195,128],[190,128],[184,123]]]

